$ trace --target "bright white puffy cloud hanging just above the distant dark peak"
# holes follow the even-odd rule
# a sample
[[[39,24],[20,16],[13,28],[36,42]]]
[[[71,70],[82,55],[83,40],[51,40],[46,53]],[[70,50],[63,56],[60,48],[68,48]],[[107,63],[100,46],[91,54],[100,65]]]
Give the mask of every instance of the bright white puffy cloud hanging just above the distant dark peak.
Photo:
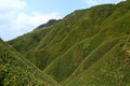
[[[35,13],[31,16],[25,13],[18,13],[17,17],[12,22],[11,26],[13,30],[30,31],[35,27],[38,27],[41,24],[47,23],[49,19],[58,19],[60,16],[57,13],[41,14]]]

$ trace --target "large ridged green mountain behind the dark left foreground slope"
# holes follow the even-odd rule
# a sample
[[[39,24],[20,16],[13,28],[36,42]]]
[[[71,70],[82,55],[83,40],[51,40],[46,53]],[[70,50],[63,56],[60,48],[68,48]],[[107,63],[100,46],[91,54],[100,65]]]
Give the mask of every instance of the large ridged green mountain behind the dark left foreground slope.
[[[63,86],[130,86],[130,1],[78,10],[9,41]]]

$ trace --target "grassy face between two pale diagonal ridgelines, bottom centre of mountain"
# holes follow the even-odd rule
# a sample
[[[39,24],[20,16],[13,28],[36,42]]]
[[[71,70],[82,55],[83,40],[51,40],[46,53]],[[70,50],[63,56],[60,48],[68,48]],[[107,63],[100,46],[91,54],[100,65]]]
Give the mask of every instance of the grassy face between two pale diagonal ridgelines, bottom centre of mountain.
[[[82,40],[72,46],[64,55],[57,57],[50,63],[44,72],[52,75],[58,82],[65,81],[89,55],[104,40],[104,34],[96,34],[93,38]]]

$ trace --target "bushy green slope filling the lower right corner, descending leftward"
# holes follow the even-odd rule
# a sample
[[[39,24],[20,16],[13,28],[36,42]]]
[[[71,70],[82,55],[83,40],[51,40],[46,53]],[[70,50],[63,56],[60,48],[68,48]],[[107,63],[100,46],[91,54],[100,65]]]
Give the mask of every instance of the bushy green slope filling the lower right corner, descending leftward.
[[[130,55],[118,43],[66,86],[80,85],[130,86]]]

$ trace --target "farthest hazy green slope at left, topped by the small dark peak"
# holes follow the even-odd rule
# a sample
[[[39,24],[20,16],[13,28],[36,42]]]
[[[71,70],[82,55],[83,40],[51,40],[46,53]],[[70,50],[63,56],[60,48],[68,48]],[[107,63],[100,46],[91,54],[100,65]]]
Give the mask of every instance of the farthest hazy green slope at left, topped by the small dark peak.
[[[8,43],[12,45],[17,52],[25,55],[26,52],[35,49],[40,40],[50,31],[50,27],[56,24],[57,22],[60,20],[51,19],[47,24],[37,27],[34,31],[21,35],[16,39],[13,39]]]

